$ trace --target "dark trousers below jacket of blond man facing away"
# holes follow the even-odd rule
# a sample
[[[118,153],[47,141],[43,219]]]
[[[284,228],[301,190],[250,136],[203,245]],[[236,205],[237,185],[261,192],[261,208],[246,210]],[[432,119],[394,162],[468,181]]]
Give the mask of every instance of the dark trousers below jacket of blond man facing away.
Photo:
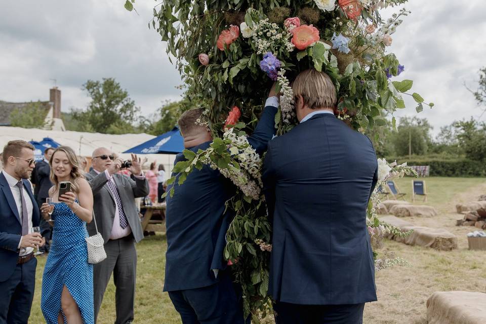
[[[298,305],[275,302],[276,324],[362,324],[365,304]]]

